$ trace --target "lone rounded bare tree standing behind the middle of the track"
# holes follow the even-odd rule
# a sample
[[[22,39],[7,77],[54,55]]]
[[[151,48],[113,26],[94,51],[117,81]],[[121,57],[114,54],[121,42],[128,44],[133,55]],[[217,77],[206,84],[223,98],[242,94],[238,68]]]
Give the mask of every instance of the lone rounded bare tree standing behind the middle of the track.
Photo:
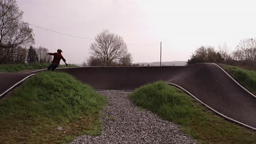
[[[110,65],[127,53],[127,46],[119,35],[103,30],[95,37],[90,46],[92,56],[102,59],[104,65]]]

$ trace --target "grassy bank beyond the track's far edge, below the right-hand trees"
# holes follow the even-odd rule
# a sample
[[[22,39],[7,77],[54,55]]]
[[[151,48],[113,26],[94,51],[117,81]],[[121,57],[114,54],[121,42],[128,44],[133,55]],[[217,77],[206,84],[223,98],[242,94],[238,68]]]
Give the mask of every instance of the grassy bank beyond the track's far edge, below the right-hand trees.
[[[231,65],[220,64],[220,66],[228,71],[242,86],[256,94],[256,71],[246,70]]]

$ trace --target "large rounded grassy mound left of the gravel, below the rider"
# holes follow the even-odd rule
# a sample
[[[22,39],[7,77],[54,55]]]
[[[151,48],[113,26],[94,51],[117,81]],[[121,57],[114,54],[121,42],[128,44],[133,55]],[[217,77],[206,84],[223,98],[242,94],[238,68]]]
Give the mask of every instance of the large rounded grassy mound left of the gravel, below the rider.
[[[78,135],[98,135],[105,103],[71,75],[38,73],[0,101],[0,143],[66,143]]]

